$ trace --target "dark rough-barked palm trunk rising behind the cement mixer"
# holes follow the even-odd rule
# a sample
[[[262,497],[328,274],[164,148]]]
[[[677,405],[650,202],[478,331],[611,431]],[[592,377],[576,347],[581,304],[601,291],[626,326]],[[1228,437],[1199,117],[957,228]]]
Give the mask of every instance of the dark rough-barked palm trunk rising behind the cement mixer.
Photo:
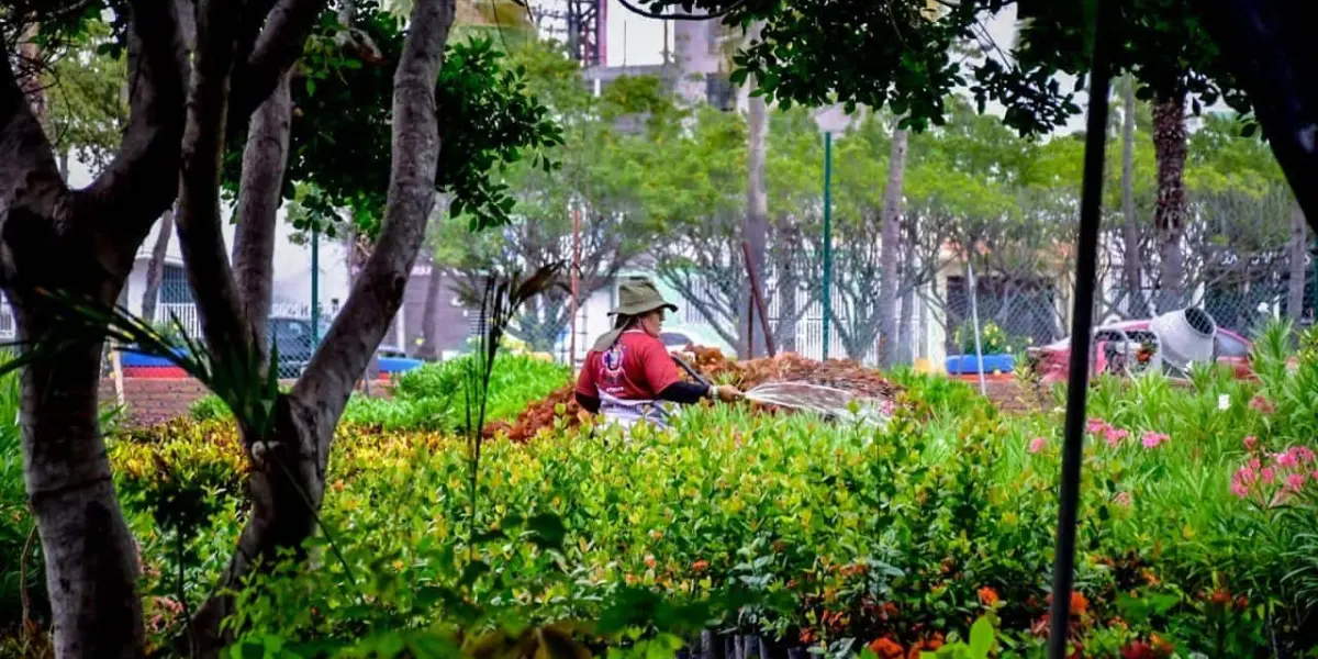
[[[1157,154],[1157,206],[1153,224],[1159,232],[1159,311],[1165,314],[1185,303],[1182,295],[1181,239],[1185,236],[1185,95],[1160,98],[1153,105],[1153,149]]]

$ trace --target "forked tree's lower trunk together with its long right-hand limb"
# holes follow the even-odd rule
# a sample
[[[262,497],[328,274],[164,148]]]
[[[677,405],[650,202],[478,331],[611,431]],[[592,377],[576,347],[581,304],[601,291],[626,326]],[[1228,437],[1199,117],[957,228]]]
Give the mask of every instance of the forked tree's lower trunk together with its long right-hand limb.
[[[380,240],[306,373],[291,394],[279,395],[274,430],[268,438],[245,438],[254,467],[252,515],[216,594],[194,621],[202,656],[217,656],[223,647],[219,623],[233,605],[227,590],[253,569],[253,560],[298,550],[315,531],[333,428],[402,304],[434,206],[440,146],[435,79],[452,18],[453,0],[418,0],[413,8],[394,74],[393,165]],[[221,299],[210,301],[211,311],[224,312]]]

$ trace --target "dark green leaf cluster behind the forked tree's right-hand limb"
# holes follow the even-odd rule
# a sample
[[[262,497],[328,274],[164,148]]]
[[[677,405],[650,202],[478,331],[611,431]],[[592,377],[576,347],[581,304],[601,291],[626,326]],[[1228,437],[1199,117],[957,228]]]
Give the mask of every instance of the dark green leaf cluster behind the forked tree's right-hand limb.
[[[295,221],[324,223],[336,208],[351,210],[360,231],[374,235],[385,207],[390,173],[394,65],[402,53],[398,21],[378,3],[355,4],[355,22],[378,51],[351,49],[340,38],[332,11],[322,16],[307,42],[303,84],[293,90],[295,119],[290,133],[286,199],[308,212]],[[505,224],[514,200],[500,171],[523,157],[552,169],[544,150],[561,142],[558,125],[530,94],[525,70],[507,65],[494,41],[476,36],[445,47],[435,84],[440,127],[436,188],[448,196],[449,212],[471,217],[473,227]],[[236,191],[245,132],[236,130],[228,149],[225,181]],[[297,194],[311,183],[318,194]],[[326,233],[336,227],[324,224]]]

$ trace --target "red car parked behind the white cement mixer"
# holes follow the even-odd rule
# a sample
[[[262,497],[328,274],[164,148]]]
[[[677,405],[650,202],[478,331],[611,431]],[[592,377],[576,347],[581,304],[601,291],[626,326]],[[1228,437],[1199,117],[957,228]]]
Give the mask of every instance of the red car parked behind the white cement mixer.
[[[1153,332],[1149,331],[1149,320],[1127,320],[1112,323],[1094,330],[1094,358],[1090,362],[1090,373],[1124,370],[1124,361],[1130,358],[1128,351],[1120,348],[1122,341],[1152,343]],[[1230,330],[1218,328],[1214,337],[1213,353],[1218,364],[1227,364],[1239,378],[1253,377],[1249,366],[1249,352],[1253,344]],[[1135,360],[1144,361],[1145,351],[1136,351]],[[1070,373],[1070,337],[1044,345],[1031,348],[1029,358],[1035,360],[1039,374],[1045,382],[1065,381]]]

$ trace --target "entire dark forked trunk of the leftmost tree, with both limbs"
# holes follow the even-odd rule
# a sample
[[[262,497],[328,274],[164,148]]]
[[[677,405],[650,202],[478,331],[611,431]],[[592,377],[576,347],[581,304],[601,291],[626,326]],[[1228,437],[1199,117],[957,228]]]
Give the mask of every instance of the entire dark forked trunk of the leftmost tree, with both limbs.
[[[66,343],[24,372],[22,449],[41,535],[57,656],[141,656],[137,555],[98,427],[101,341],[59,322],[37,289],[119,299],[163,212],[182,133],[183,67],[171,5],[130,4],[130,116],[115,161],[71,191],[11,62],[0,63],[0,282],[20,340]],[[59,258],[51,258],[58,254]]]

